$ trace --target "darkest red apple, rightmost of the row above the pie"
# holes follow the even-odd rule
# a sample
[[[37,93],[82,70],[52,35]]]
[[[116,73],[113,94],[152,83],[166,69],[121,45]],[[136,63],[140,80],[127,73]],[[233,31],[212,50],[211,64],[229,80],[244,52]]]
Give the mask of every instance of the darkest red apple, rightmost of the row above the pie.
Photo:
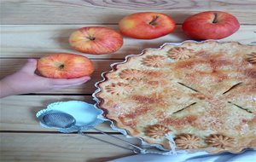
[[[221,11],[194,14],[183,22],[183,31],[194,39],[226,38],[239,27],[240,24],[235,16]]]

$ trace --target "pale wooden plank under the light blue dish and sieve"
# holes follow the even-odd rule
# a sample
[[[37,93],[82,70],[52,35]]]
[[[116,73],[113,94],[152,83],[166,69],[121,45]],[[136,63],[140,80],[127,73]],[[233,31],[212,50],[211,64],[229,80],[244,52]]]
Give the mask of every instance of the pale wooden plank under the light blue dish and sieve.
[[[86,101],[94,104],[91,95],[13,95],[0,100],[0,130],[15,131],[57,131],[43,128],[36,113],[56,101]],[[108,122],[98,124],[99,130],[116,132]],[[88,132],[97,132],[88,130]]]

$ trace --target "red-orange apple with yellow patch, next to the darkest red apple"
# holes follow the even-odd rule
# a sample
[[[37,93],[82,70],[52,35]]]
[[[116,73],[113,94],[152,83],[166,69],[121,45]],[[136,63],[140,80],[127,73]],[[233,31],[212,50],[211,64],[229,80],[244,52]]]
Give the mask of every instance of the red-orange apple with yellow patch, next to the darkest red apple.
[[[130,14],[119,21],[120,32],[130,38],[160,38],[174,28],[175,21],[169,15],[155,12]]]

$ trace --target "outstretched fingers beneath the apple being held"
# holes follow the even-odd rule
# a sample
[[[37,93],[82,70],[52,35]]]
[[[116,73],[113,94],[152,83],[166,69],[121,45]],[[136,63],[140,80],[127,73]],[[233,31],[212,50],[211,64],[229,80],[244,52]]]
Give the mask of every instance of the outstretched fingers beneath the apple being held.
[[[52,85],[67,85],[67,86],[72,86],[72,85],[77,85],[77,84],[84,84],[90,80],[90,77],[81,77],[81,78],[51,78],[50,79],[50,84]]]

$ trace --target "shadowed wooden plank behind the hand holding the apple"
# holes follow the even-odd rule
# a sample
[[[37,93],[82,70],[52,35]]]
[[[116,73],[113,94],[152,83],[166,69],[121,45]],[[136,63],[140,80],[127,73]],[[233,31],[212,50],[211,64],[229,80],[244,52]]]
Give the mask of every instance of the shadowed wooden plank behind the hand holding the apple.
[[[110,64],[121,61],[122,60],[94,60],[93,63],[96,70],[91,75],[89,82],[63,90],[44,91],[38,94],[92,94],[96,90],[94,84],[102,80],[102,72],[110,70]],[[25,63],[26,59],[0,59],[0,78],[16,72]]]

